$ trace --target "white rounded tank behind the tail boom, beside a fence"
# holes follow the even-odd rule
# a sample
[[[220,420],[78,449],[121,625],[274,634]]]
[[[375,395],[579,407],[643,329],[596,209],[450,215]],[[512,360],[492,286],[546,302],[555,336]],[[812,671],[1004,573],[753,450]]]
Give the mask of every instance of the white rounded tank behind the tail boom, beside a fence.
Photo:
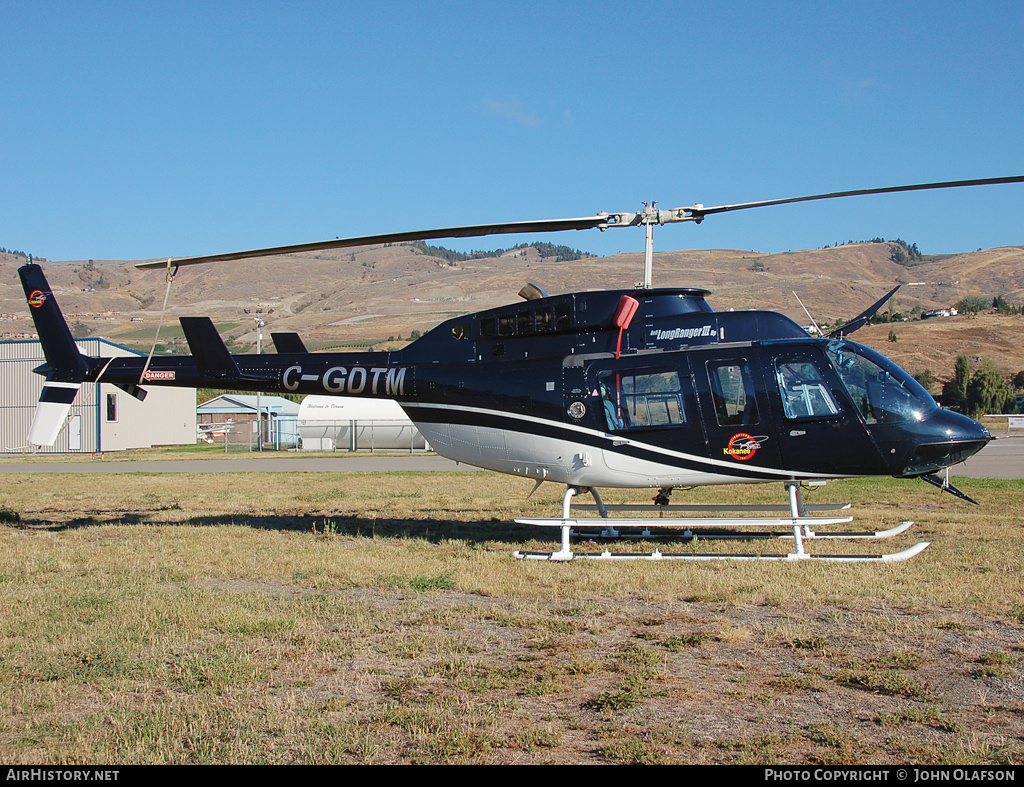
[[[425,450],[420,430],[393,399],[307,396],[299,405],[303,450]]]

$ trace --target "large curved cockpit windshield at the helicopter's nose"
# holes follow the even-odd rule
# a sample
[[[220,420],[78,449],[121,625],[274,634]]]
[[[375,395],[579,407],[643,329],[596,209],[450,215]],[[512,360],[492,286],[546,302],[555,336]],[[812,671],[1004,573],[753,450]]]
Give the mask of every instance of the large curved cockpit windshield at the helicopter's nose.
[[[849,341],[829,342],[827,350],[850,398],[868,424],[922,421],[938,408],[916,380],[874,350]]]

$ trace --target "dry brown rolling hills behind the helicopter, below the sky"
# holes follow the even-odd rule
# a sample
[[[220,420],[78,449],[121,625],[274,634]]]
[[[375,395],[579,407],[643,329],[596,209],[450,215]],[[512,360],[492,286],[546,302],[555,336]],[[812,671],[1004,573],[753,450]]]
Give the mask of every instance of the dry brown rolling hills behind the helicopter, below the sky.
[[[718,310],[762,308],[809,323],[796,292],[819,323],[857,314],[895,283],[904,287],[893,310],[948,307],[967,295],[1002,296],[1024,303],[1024,247],[926,257],[912,267],[890,259],[884,243],[764,254],[714,249],[655,253],[654,282],[699,287]],[[33,331],[16,275],[25,258],[0,254],[0,333]],[[43,262],[69,322],[77,334],[148,350],[165,280],[132,261]],[[549,293],[632,287],[642,276],[643,255],[618,254],[570,262],[542,258],[534,248],[501,257],[450,263],[411,246],[370,247],[247,262],[182,268],[172,291],[161,344],[184,351],[176,318],[206,314],[236,351],[255,345],[251,315],[261,306],[270,331],[296,331],[311,349],[352,345],[401,346],[450,316],[517,300],[534,281]],[[898,339],[889,341],[890,332]],[[870,325],[857,334],[912,373],[952,374],[953,359],[972,366],[987,357],[1004,374],[1024,368],[1024,317],[982,313]]]

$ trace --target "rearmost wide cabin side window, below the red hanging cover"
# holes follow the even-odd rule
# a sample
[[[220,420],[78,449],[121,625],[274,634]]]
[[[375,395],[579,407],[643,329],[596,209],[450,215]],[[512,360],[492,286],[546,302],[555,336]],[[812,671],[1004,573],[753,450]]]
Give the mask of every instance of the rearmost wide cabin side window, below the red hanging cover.
[[[686,423],[676,371],[603,371],[598,394],[609,430]]]

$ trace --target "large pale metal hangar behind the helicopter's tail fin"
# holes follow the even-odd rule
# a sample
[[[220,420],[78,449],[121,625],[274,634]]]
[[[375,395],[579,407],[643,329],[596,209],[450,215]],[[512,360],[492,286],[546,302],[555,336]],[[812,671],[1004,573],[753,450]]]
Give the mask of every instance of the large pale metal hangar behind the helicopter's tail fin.
[[[103,339],[78,339],[86,355],[141,355]],[[0,342],[0,452],[26,450],[26,438],[43,390],[33,373],[43,363],[38,341]],[[106,383],[82,386],[68,421],[52,446],[32,446],[41,453],[99,453],[154,445],[196,444],[196,389],[145,387],[139,401]]]

